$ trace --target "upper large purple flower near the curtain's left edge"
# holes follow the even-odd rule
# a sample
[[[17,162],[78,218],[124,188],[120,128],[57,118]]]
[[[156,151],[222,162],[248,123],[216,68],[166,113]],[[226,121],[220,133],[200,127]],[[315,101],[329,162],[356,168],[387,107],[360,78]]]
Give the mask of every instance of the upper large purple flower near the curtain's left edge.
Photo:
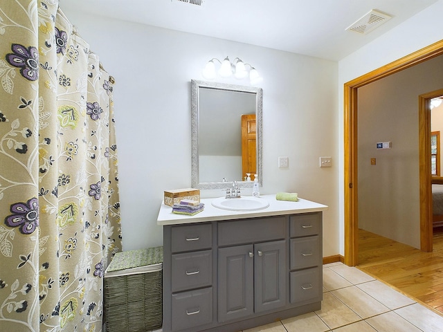
[[[20,68],[26,80],[36,81],[39,78],[39,52],[36,47],[12,44],[12,53],[6,55],[10,65]]]

